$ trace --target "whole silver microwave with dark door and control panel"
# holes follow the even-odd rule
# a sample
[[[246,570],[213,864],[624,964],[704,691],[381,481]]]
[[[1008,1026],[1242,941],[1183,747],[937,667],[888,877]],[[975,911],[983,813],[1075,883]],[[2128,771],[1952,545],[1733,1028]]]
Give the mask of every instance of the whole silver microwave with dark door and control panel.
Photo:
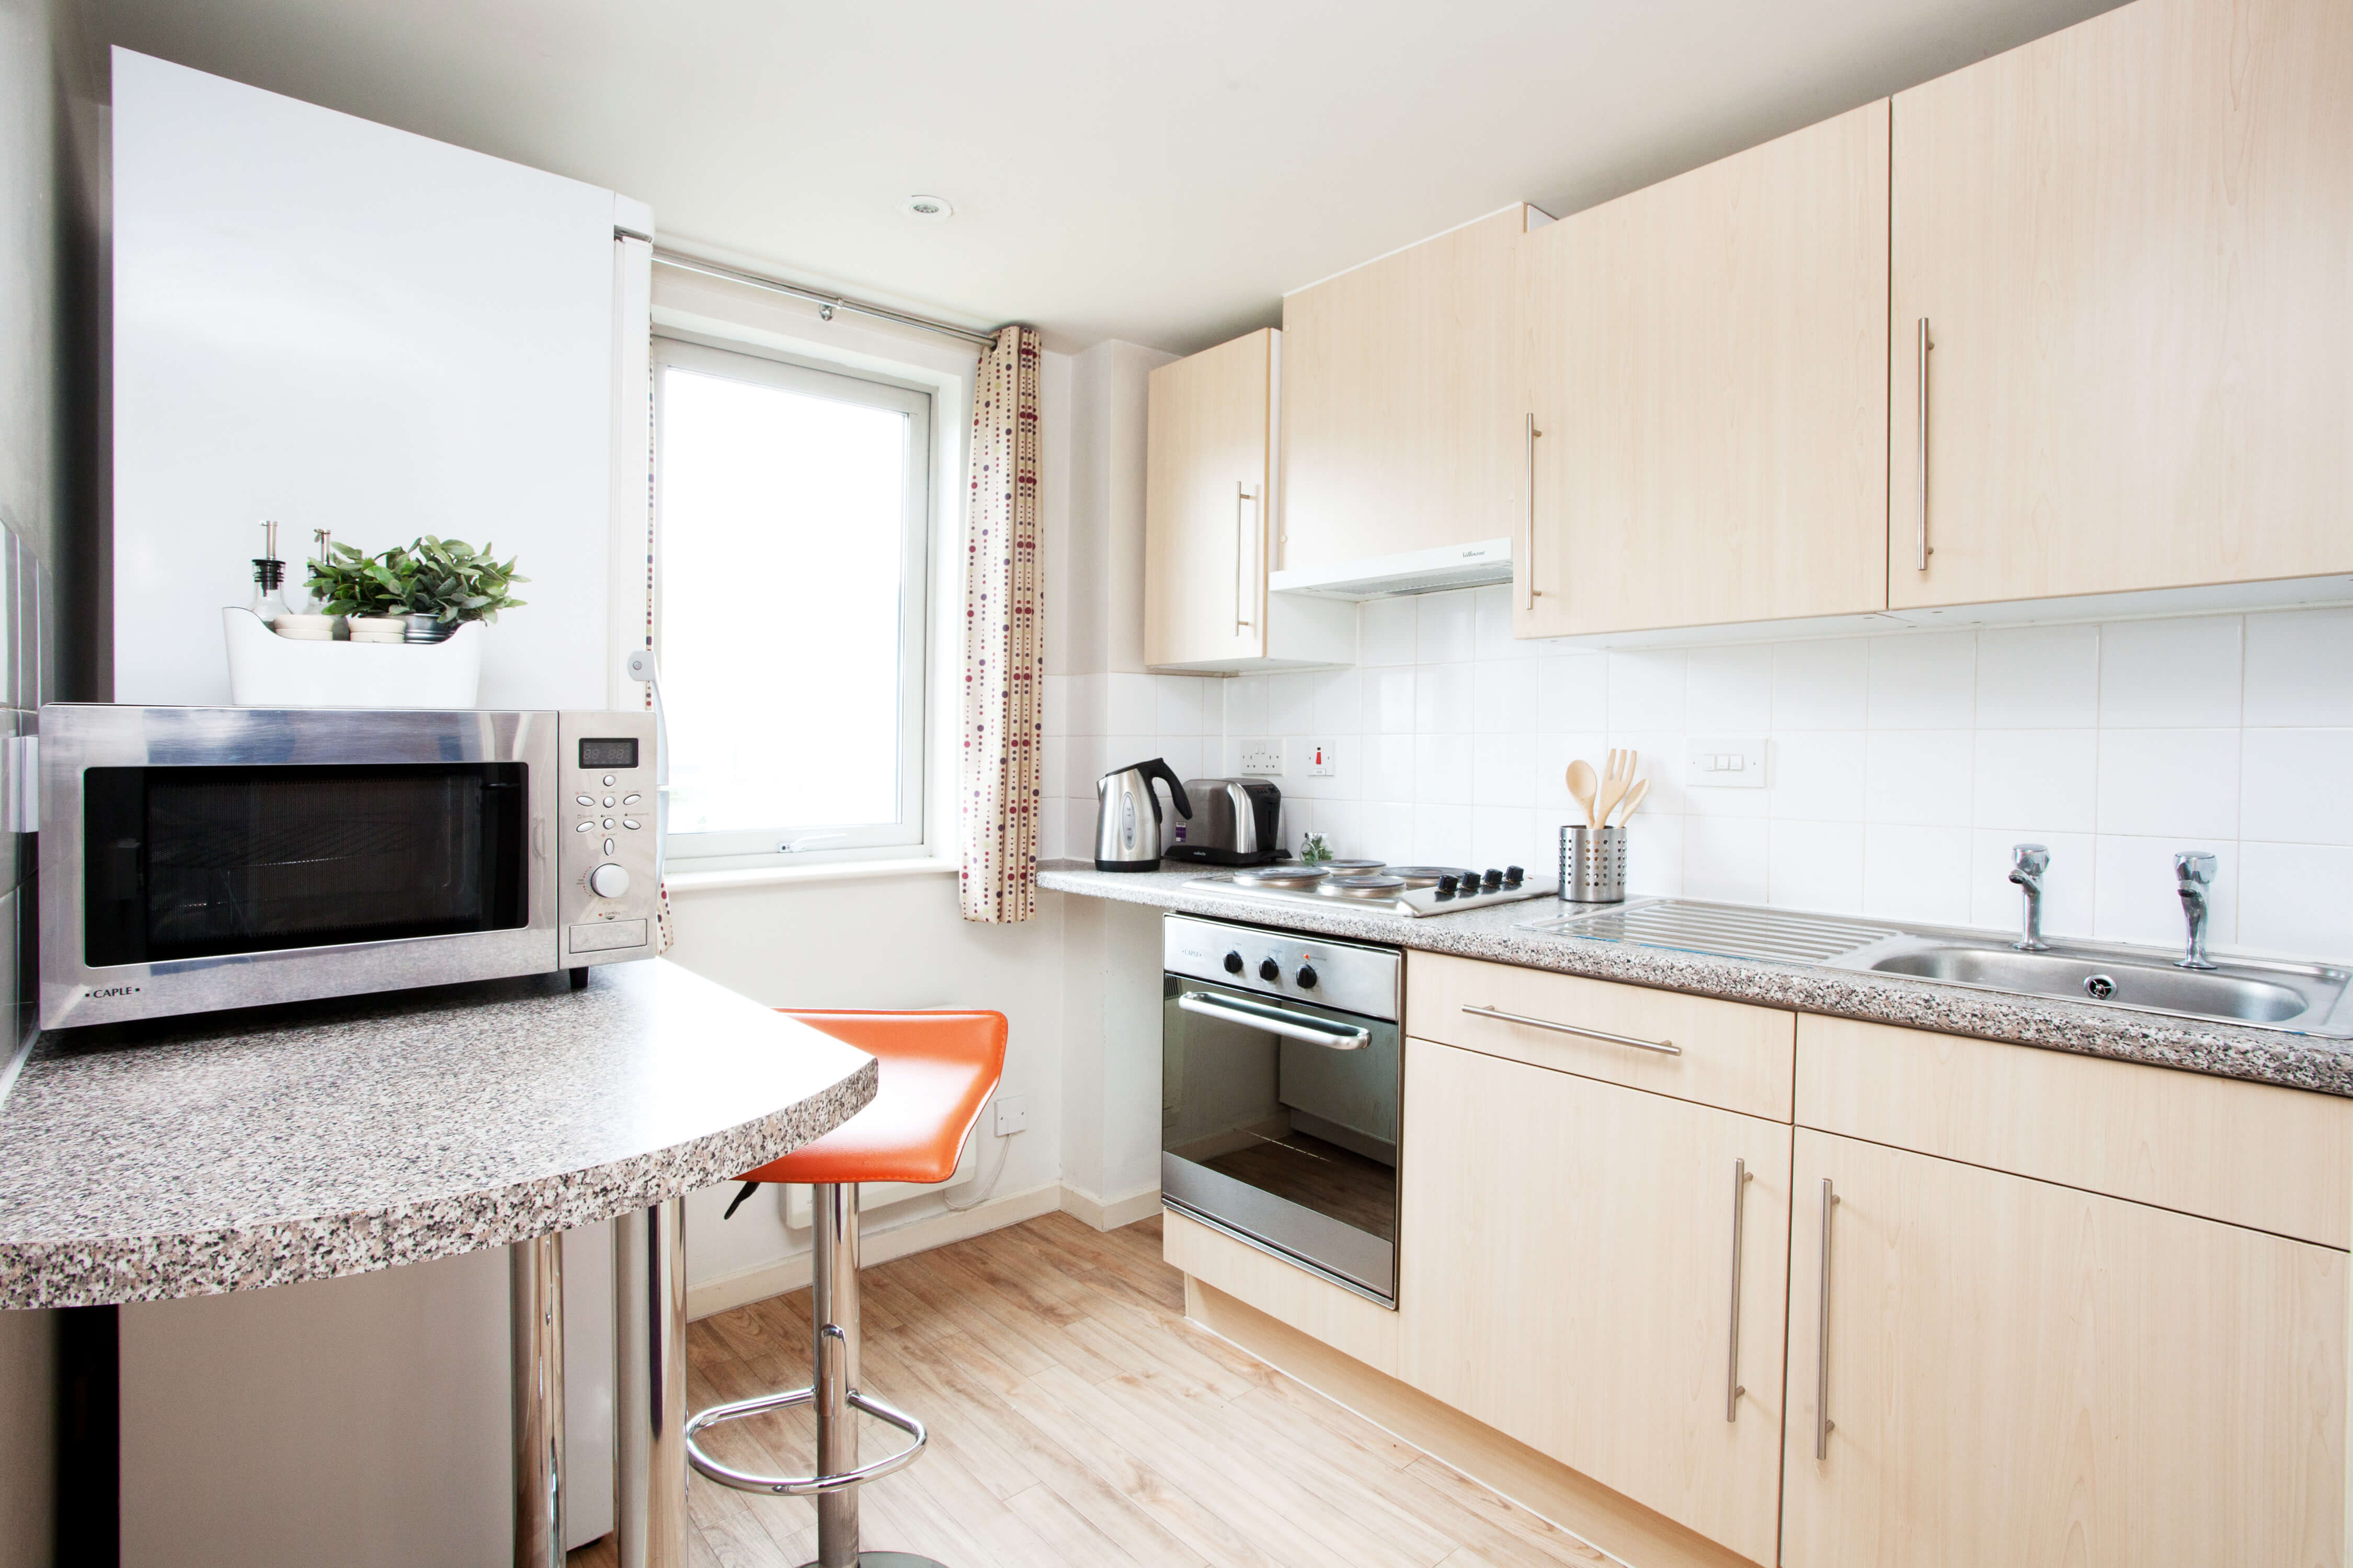
[[[652,958],[652,713],[40,711],[40,1024]]]

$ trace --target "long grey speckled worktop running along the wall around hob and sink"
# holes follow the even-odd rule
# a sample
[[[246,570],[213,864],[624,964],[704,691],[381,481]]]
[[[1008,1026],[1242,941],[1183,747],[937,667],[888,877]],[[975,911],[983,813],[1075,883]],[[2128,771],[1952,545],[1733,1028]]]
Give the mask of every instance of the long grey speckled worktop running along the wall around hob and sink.
[[[1586,975],[1588,979],[1621,979],[1638,986],[1722,996],[1767,1008],[1859,1017],[1875,1024],[1906,1024],[1911,1029],[1941,1029],[1944,1034],[1974,1034],[2012,1045],[2073,1050],[2089,1057],[2179,1067],[2224,1078],[2320,1090],[2325,1095],[2353,1095],[2353,1041],[2127,1012],[2089,1001],[2075,1003],[1969,991],[1901,975],[1859,975],[1800,963],[1718,958],[1635,946],[1631,942],[1520,930],[1527,921],[1558,918],[1572,909],[1548,897],[1405,921],[1353,909],[1278,909],[1249,899],[1184,892],[1184,883],[1205,873],[1209,873],[1207,866],[1184,871],[1096,871],[1087,862],[1049,862],[1038,873],[1038,885],[1052,892],[1153,904],[1158,909],[1304,930],[1322,937],[1388,942],[1391,946],[1518,963],[1532,970]]]

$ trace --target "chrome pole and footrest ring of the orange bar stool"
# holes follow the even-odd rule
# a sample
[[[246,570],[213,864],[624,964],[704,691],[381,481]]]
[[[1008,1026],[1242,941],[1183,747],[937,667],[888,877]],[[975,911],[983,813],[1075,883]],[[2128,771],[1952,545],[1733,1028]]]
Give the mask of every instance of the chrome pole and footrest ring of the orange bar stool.
[[[911,1552],[859,1552],[856,1488],[913,1464],[932,1434],[906,1410],[859,1391],[856,1184],[819,1182],[809,1196],[814,1198],[816,1227],[816,1257],[809,1276],[809,1321],[816,1328],[812,1337],[814,1382],[805,1389],[739,1398],[696,1413],[687,1422],[687,1460],[696,1474],[741,1493],[816,1497],[816,1561],[807,1568],[941,1568],[941,1563]],[[694,1441],[704,1427],[812,1403],[816,1406],[816,1474],[809,1476],[760,1476],[734,1469],[706,1455]],[[915,1441],[873,1464],[859,1464],[859,1410]]]

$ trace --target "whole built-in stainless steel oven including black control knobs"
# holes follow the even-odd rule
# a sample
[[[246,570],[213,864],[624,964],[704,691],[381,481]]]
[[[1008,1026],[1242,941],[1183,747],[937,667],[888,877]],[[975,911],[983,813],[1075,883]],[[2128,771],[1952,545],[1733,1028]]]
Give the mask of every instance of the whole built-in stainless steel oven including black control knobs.
[[[1405,954],[1162,918],[1160,1198],[1398,1304]]]

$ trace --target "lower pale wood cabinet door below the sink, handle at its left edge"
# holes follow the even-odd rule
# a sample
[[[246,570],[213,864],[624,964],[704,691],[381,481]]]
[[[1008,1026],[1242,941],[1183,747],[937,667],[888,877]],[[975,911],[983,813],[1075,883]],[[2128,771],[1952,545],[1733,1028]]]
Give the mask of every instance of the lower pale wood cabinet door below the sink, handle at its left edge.
[[[1788,1568],[2344,1563],[2344,1253],[1812,1130],[1795,1203]]]

